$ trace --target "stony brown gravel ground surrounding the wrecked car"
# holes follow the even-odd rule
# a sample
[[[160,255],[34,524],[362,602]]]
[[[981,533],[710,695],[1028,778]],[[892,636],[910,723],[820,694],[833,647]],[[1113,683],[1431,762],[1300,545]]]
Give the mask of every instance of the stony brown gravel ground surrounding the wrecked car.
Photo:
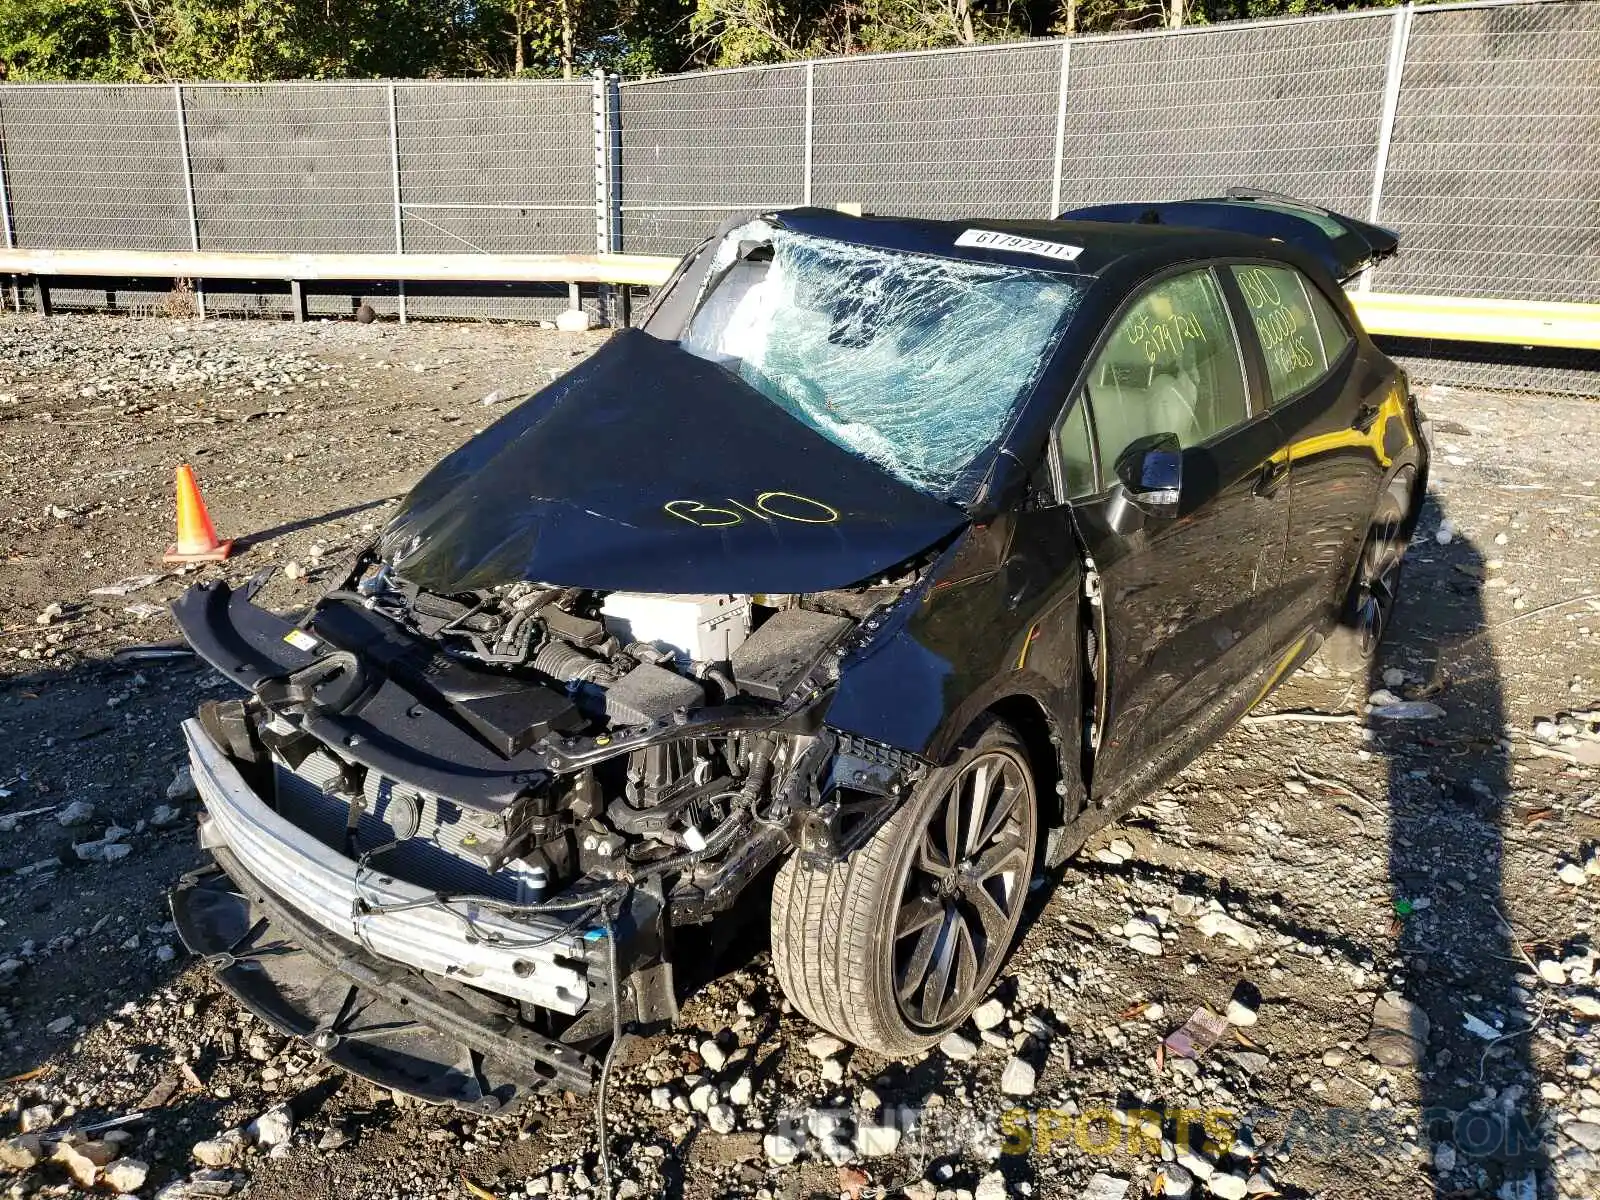
[[[10,1194],[600,1194],[589,1102],[397,1102],[186,960],[176,726],[216,685],[115,653],[171,638],[211,574],[275,568],[264,602],[307,603],[602,336],[0,320]],[[1038,880],[994,1002],[922,1059],[819,1037],[758,941],[725,954],[682,1029],[619,1054],[618,1195],[1600,1192],[1600,408],[1424,400],[1434,496],[1378,677],[1301,672]],[[242,552],[96,594],[160,571],[179,461]]]

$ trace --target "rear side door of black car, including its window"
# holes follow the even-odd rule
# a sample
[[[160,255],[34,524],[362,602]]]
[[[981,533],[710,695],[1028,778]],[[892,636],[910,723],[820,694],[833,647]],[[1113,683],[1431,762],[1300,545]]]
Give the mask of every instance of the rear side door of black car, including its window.
[[[1394,381],[1363,368],[1358,339],[1318,285],[1285,262],[1227,267],[1259,350],[1267,406],[1283,429],[1290,530],[1277,610],[1296,630],[1317,629],[1344,595],[1387,454]]]

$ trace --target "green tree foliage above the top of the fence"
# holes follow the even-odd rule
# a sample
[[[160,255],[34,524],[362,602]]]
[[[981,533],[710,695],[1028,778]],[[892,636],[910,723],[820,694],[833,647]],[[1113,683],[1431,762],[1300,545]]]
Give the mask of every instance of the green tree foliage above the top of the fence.
[[[1384,0],[1379,0],[1384,2]],[[0,0],[0,78],[646,75],[1349,0]]]

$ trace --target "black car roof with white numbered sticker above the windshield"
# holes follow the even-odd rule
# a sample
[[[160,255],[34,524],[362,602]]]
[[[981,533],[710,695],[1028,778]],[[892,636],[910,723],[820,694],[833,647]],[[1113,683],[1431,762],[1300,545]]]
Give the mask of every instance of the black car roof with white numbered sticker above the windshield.
[[[933,254],[968,262],[1045,270],[1058,275],[1101,277],[1136,267],[1139,274],[1171,262],[1203,258],[1304,258],[1278,242],[1214,229],[1189,229],[1123,221],[997,221],[970,218],[928,221],[899,216],[851,216],[830,208],[789,208],[771,213],[781,229],[859,246]],[[971,234],[1000,234],[973,238]],[[965,238],[963,245],[963,235]],[[1034,243],[1034,245],[1030,245]],[[1066,256],[1064,250],[1075,251]]]

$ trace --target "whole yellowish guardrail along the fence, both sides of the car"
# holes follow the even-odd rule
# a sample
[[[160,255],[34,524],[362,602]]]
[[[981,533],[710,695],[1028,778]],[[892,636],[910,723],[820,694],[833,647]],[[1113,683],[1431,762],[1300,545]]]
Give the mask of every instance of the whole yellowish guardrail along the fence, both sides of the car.
[[[262,254],[189,250],[0,250],[0,275],[227,278],[290,283],[632,283],[659,286],[677,266],[658,254]],[[48,307],[40,288],[42,309]],[[1352,291],[1368,333],[1600,350],[1600,304]]]

